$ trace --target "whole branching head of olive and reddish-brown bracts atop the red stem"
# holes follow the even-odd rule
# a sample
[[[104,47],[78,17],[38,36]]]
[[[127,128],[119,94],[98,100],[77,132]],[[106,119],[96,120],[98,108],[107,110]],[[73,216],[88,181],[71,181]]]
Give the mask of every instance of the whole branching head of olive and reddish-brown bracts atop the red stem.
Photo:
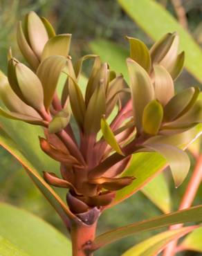
[[[189,160],[170,136],[201,122],[199,89],[190,87],[174,95],[173,80],[184,60],[183,53],[178,55],[178,36],[165,35],[150,51],[140,40],[128,39],[129,86],[98,55],[86,55],[73,64],[68,55],[71,35],[55,35],[46,19],[30,12],[17,30],[19,48],[30,68],[10,54],[8,79],[0,75],[1,100],[7,108],[0,109],[1,115],[44,127],[46,138],[39,138],[39,143],[61,163],[62,176],[44,172],[44,179],[69,190],[68,206],[82,220],[92,211],[97,216],[113,201],[116,190],[133,182],[135,177],[120,174],[136,152],[163,154],[176,186],[180,185]],[[80,74],[89,59],[93,66],[83,95]]]

